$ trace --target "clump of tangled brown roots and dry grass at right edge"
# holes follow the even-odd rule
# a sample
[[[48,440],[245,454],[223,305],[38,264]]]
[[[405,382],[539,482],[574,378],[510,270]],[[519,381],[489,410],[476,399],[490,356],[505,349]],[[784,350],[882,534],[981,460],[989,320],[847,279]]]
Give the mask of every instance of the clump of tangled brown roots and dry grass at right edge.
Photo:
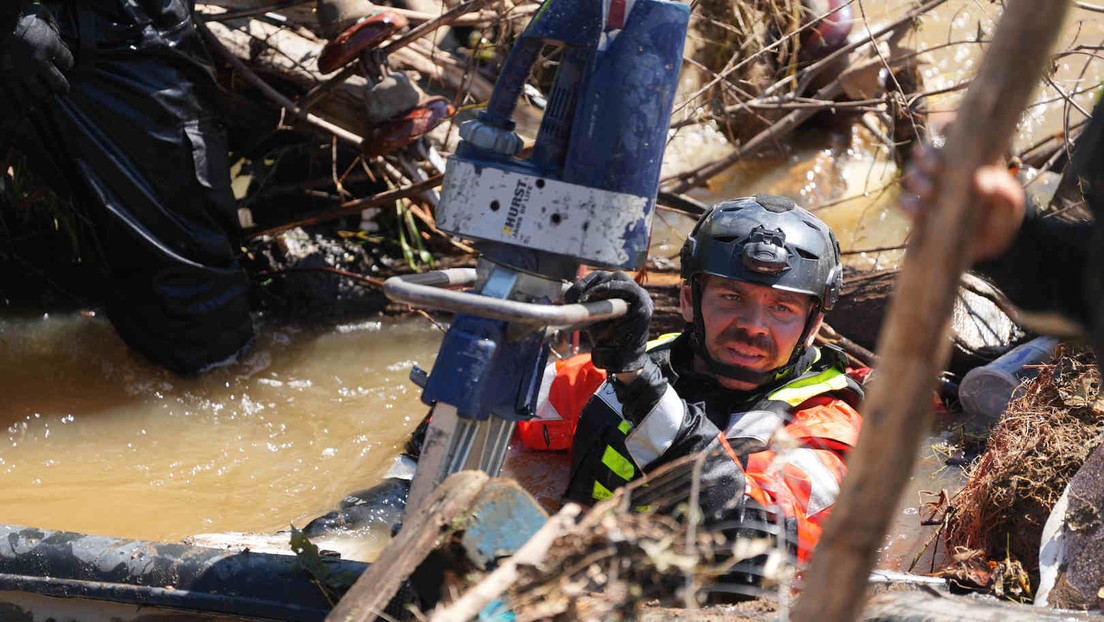
[[[1039,541],[1062,491],[1100,444],[1104,402],[1087,349],[1060,347],[1009,404],[969,481],[951,500],[944,538],[956,558],[1018,560],[1038,584]],[[959,563],[956,559],[956,563]]]

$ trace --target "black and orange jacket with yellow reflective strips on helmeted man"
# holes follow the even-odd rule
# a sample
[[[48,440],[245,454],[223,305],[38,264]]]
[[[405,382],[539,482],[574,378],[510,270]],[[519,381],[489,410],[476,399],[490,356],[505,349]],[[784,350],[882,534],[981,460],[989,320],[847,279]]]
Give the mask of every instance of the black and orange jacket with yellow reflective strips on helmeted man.
[[[787,540],[807,558],[858,437],[862,390],[846,375],[841,352],[811,348],[796,378],[732,391],[693,371],[688,341],[683,334],[652,346],[640,378],[628,386],[607,381],[586,402],[566,496],[594,503],[644,474],[703,456],[699,504],[707,524],[760,528],[781,514]],[[779,431],[793,447],[771,446]],[[656,475],[636,489],[633,505],[665,512],[686,503],[692,471],[688,463]]]

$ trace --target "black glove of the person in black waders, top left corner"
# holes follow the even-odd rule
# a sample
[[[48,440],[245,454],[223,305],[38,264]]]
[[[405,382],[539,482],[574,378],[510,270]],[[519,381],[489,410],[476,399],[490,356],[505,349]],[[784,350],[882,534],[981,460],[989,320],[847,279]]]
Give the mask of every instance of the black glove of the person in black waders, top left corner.
[[[20,13],[15,30],[0,39],[0,104],[24,113],[52,95],[68,93],[65,72],[73,54],[57,32],[53,15],[40,4]]]

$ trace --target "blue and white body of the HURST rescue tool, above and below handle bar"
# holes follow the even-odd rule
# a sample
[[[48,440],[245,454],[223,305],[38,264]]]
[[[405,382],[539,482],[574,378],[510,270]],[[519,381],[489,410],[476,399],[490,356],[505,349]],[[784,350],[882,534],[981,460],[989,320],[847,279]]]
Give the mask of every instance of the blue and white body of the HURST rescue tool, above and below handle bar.
[[[447,220],[449,225],[442,225],[443,230],[480,240],[484,256],[497,265],[571,280],[580,263],[639,268],[647,259],[690,8],[635,0],[624,28],[608,30],[604,6],[602,0],[546,0],[514,43],[487,109],[461,128],[461,135],[465,129],[467,134],[449,167],[467,172],[455,180],[453,194],[448,194],[446,175],[438,224]],[[511,116],[533,63],[549,44],[563,45],[564,51],[532,155],[521,159],[516,157],[521,140],[513,133]],[[470,183],[473,178],[496,177],[495,171],[520,177],[498,176],[506,181],[478,188]],[[548,180],[571,187],[561,185],[562,193],[552,198],[545,187],[554,185]],[[501,200],[493,194],[500,191],[507,192]],[[576,196],[590,199],[573,204],[571,198]],[[514,215],[513,201],[528,201],[524,207],[530,214],[558,210],[552,214],[554,224],[561,222],[562,212],[564,222],[578,228],[575,240],[581,245],[565,250],[566,225],[558,230],[535,215],[528,222],[537,230],[527,240],[540,239],[541,243],[521,242],[514,221],[500,220]],[[606,219],[606,229],[598,224],[587,229],[592,221],[602,221],[603,213],[623,207],[631,207],[629,215]],[[447,219],[446,213],[450,214]],[[591,243],[613,245],[616,253],[601,256],[618,261],[595,261],[597,255],[587,252]],[[523,293],[512,299],[531,302]],[[458,315],[422,400],[453,404],[460,418],[469,420],[486,420],[489,414],[506,420],[531,418],[549,347],[543,344],[544,330],[519,331],[520,336],[508,338],[508,328],[501,320]]]

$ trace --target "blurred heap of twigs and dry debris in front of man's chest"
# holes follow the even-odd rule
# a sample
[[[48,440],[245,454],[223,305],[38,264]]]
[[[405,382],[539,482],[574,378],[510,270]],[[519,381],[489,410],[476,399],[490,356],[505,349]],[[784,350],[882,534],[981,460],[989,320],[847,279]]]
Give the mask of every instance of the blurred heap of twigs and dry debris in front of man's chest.
[[[788,591],[793,567],[776,538],[730,537],[688,512],[696,462],[673,463],[592,508],[540,563],[521,568],[503,598],[510,611],[518,620],[631,620],[645,605],[697,609],[718,597]]]

